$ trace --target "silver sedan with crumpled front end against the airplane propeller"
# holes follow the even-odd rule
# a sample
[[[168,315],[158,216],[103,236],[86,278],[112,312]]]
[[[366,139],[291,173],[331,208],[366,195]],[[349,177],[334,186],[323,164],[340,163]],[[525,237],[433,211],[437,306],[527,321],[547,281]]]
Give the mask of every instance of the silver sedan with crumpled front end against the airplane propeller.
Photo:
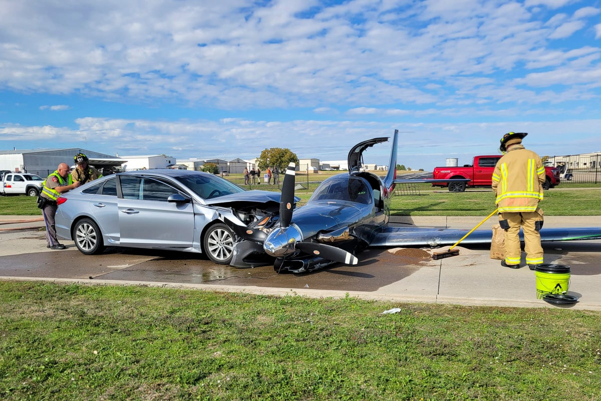
[[[279,192],[247,191],[201,171],[129,171],[61,195],[56,232],[87,255],[129,246],[204,253],[222,265],[241,245],[235,265],[249,267],[266,257],[257,242],[270,227],[258,224],[277,221],[279,199]]]

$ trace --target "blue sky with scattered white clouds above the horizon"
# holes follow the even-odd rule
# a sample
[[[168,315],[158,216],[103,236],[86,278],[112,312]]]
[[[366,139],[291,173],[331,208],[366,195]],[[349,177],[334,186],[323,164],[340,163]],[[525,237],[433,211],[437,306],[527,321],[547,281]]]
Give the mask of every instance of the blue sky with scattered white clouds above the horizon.
[[[601,152],[601,0],[0,0],[0,150]],[[365,162],[385,162],[373,148]]]

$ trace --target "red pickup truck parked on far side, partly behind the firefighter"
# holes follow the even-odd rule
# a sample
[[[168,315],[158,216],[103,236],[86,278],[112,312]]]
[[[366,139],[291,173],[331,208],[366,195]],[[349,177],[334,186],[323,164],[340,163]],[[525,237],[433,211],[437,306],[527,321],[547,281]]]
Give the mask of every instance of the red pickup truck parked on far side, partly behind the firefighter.
[[[433,171],[434,179],[469,179],[469,182],[437,182],[432,186],[448,186],[451,192],[463,192],[466,186],[492,186],[492,173],[495,170],[496,162],[501,159],[501,155],[475,156],[471,165],[463,167],[435,167]],[[557,167],[545,167],[547,179],[543,183],[543,189],[553,188],[560,183],[560,170]]]

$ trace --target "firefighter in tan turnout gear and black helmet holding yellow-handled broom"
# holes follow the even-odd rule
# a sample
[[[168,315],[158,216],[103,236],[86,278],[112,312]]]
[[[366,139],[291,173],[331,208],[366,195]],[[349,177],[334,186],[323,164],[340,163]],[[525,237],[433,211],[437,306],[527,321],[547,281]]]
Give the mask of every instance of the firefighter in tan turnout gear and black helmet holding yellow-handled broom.
[[[525,132],[509,132],[501,138],[499,148],[504,156],[499,159],[492,174],[492,189],[496,192],[499,224],[505,230],[505,260],[501,266],[519,269],[522,262],[520,227],[524,233],[526,264],[530,270],[543,263],[540,229],[543,211],[538,202],[543,200],[545,167],[538,155],[522,145]]]

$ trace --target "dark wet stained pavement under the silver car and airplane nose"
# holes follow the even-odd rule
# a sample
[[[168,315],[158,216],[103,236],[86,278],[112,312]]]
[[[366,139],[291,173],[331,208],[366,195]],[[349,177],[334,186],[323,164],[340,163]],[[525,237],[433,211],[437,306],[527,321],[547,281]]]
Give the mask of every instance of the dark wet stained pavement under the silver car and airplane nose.
[[[43,233],[29,234],[43,240]],[[52,277],[78,280],[149,281],[183,284],[313,288],[375,291],[402,280],[420,265],[436,263],[423,249],[370,249],[356,266],[332,266],[308,274],[278,274],[273,266],[240,269],[216,265],[200,254],[151,249],[108,247],[100,255],[84,255],[68,245],[63,251],[44,251],[0,257],[0,277]]]

